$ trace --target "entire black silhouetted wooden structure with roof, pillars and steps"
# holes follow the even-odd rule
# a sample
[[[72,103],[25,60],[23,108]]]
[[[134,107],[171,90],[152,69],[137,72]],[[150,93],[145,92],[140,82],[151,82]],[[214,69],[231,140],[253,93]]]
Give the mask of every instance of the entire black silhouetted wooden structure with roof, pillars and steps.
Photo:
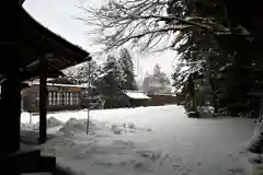
[[[39,142],[46,140],[47,77],[90,59],[89,54],[37,23],[23,8],[23,0],[1,2],[0,63],[2,114],[0,164],[5,174],[53,171],[55,158],[39,151],[20,152],[21,89],[24,80],[39,77]],[[7,116],[8,115],[8,116]],[[26,166],[27,165],[27,166]],[[28,166],[30,165],[30,166]],[[12,168],[10,168],[12,167]]]

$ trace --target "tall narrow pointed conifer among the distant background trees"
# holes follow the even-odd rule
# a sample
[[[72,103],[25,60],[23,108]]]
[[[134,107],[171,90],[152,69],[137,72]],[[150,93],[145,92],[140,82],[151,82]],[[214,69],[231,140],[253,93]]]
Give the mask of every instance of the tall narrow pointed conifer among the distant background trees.
[[[134,74],[134,62],[128,49],[123,48],[119,52],[118,65],[122,70],[123,79],[122,89],[123,90],[136,90],[136,81]]]

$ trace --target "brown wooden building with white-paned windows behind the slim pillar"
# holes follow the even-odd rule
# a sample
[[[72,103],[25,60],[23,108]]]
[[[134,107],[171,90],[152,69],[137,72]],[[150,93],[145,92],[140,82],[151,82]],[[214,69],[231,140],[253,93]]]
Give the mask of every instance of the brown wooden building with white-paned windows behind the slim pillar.
[[[28,112],[38,112],[39,108],[39,81],[27,82],[28,88],[22,91],[22,109]],[[87,108],[103,108],[104,102],[101,100],[96,88],[89,84],[73,84],[65,78],[49,79],[47,83],[48,91],[48,110],[64,110]]]

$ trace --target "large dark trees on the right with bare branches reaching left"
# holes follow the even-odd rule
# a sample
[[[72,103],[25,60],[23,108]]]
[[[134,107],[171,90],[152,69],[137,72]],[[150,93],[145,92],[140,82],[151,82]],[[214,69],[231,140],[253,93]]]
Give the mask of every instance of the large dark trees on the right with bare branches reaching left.
[[[110,0],[98,9],[80,7],[87,13],[80,20],[96,26],[104,51],[124,44],[175,50],[173,85],[187,109],[211,105],[216,113],[258,117],[262,7],[256,0]]]

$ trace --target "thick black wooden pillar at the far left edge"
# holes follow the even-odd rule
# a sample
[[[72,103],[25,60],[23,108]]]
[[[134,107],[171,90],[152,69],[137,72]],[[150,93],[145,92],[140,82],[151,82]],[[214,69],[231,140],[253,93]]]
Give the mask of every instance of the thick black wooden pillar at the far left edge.
[[[1,84],[0,152],[8,155],[20,150],[21,85],[18,79]]]

